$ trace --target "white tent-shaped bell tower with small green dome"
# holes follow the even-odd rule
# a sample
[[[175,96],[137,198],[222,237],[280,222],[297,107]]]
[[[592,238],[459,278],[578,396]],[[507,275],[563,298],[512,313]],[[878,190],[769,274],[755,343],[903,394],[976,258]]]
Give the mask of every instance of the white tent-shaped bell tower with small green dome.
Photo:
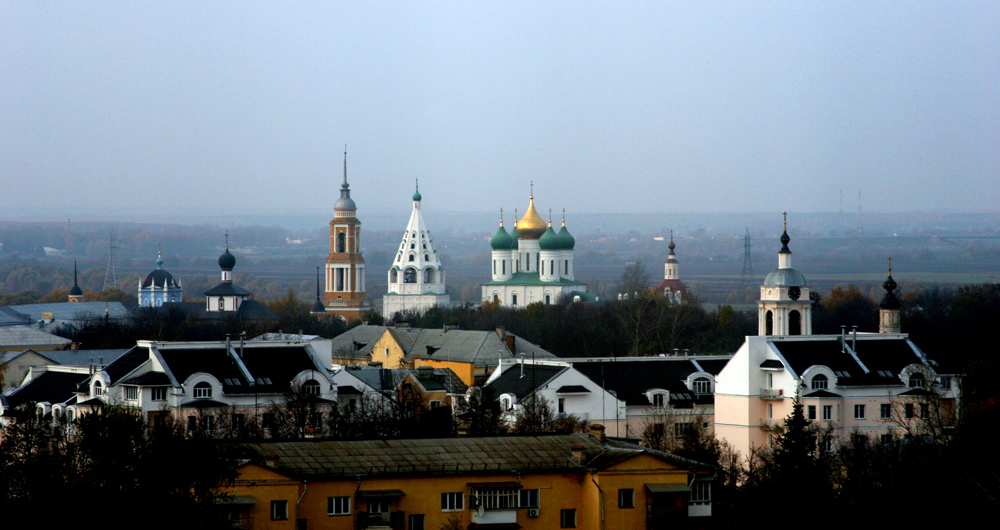
[[[447,306],[444,267],[434,250],[434,239],[420,212],[420,188],[413,194],[413,211],[403,241],[389,268],[389,288],[382,298],[386,318],[401,311],[422,313],[434,306]]]

